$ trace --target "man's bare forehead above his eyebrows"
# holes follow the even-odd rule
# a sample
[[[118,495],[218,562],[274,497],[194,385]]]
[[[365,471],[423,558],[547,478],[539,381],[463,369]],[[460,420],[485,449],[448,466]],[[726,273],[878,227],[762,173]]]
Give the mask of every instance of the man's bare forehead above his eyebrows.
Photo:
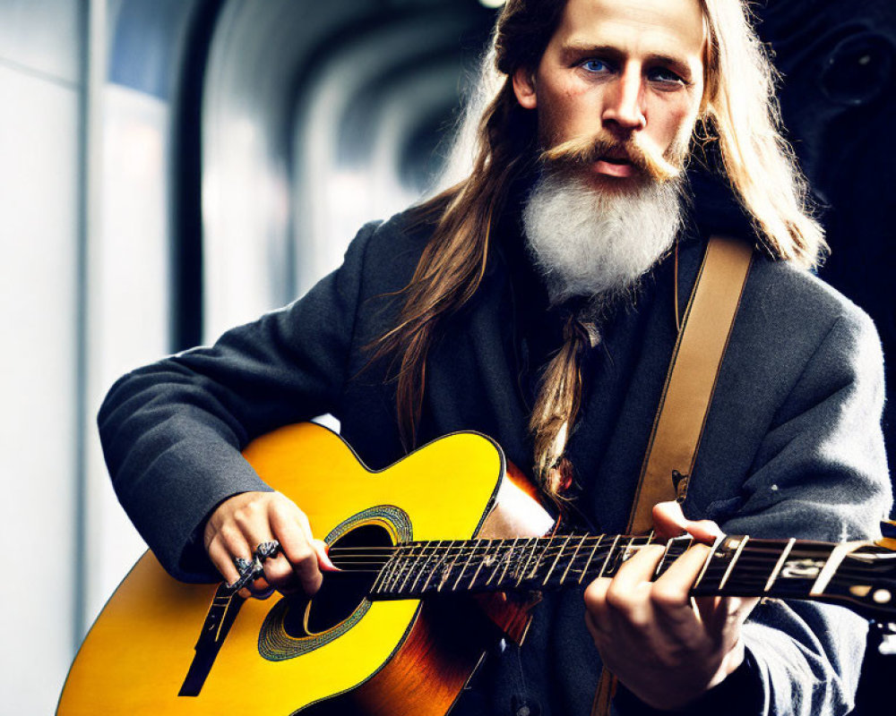
[[[552,42],[561,47],[633,47],[651,55],[701,58],[698,0],[568,0]]]

